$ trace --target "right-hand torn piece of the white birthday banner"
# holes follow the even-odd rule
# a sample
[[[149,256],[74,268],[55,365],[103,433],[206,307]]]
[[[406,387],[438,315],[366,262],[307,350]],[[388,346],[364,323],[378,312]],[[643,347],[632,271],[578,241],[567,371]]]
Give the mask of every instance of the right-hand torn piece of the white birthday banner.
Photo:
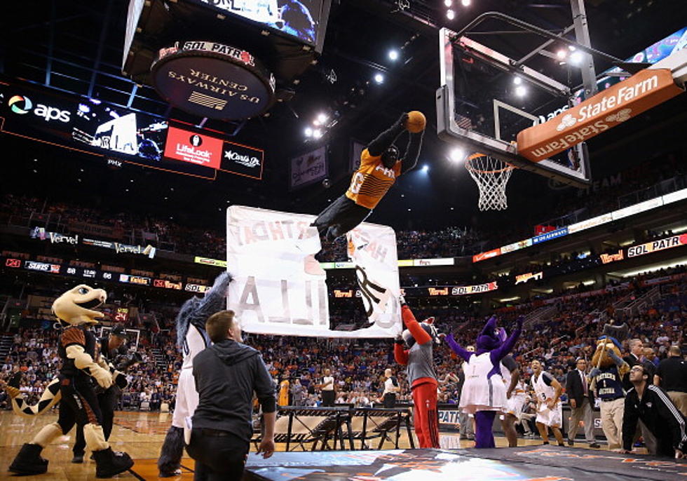
[[[372,324],[366,330],[381,334],[376,337],[395,337],[402,331],[395,232],[388,226],[363,222],[346,234],[346,240],[348,258],[355,264],[367,319]]]

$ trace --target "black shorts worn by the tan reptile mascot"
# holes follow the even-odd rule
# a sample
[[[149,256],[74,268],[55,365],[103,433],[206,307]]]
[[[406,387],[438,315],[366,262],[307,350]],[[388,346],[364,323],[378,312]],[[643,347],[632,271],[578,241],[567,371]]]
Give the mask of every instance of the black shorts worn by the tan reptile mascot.
[[[69,433],[74,424],[100,424],[102,414],[90,381],[75,383],[72,378],[60,378],[60,392],[62,399],[57,424],[62,428],[62,433]]]

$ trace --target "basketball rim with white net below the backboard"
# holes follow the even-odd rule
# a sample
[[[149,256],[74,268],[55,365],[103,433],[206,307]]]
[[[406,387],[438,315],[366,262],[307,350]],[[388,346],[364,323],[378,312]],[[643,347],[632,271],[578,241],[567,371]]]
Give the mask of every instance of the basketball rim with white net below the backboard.
[[[513,167],[507,162],[487,154],[472,154],[465,159],[465,168],[479,188],[479,210],[505,210],[508,198],[505,185],[508,184]]]

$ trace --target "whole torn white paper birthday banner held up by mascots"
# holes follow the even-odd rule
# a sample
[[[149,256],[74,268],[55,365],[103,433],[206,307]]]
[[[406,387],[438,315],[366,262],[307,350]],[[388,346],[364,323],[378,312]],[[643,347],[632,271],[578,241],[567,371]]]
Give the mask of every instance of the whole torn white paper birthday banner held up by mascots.
[[[234,277],[229,285],[227,305],[236,313],[241,328],[259,334],[315,337],[394,337],[400,333],[397,267],[394,268],[395,283],[384,297],[393,301],[395,316],[384,311],[390,309],[385,305],[377,309],[376,321],[370,327],[353,331],[329,329],[327,273],[314,258],[321,248],[317,229],[310,227],[314,219],[314,215],[241,205],[226,210],[226,261]],[[369,224],[363,224],[366,225]],[[382,261],[395,264],[396,246],[392,229],[372,227],[388,230],[382,244],[378,241],[362,249],[365,258],[369,257],[364,261],[367,264],[363,264],[365,270],[376,273],[379,268],[368,264],[381,257],[384,257]],[[389,241],[391,249],[387,245]],[[373,247],[375,251],[367,254]],[[370,280],[388,285],[388,277],[386,274],[381,280],[376,276]],[[351,299],[351,302],[361,301]]]

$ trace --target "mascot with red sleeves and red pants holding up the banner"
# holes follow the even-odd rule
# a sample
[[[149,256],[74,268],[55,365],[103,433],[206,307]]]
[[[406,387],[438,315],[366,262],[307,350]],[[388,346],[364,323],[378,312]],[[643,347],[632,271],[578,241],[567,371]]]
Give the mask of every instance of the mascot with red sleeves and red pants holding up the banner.
[[[407,366],[408,384],[413,393],[414,425],[420,447],[439,447],[437,413],[437,374],[434,372],[434,344],[439,344],[434,318],[415,320],[405,299],[399,297],[406,330],[396,339],[393,355],[397,363]],[[404,344],[407,348],[404,348]]]

